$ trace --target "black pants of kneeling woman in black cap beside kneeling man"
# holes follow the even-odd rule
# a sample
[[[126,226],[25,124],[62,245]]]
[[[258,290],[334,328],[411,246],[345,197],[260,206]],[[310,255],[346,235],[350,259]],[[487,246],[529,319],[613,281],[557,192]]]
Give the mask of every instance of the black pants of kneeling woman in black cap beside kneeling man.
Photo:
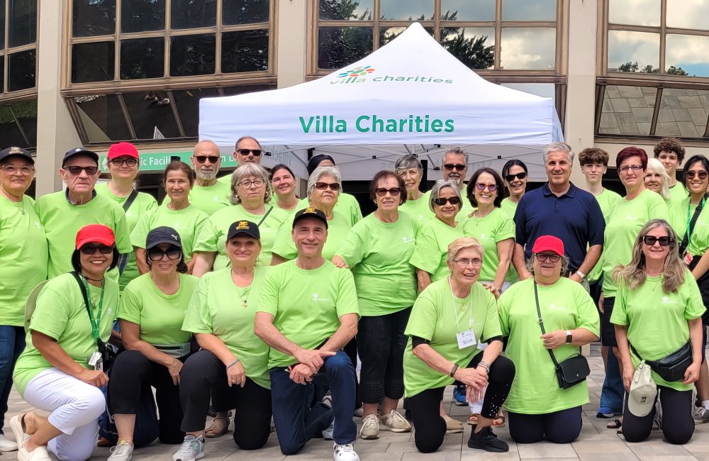
[[[204,430],[209,409],[208,389],[221,397],[234,416],[234,442],[242,450],[258,450],[271,433],[271,391],[246,378],[244,387],[228,386],[224,364],[208,350],[192,354],[180,372],[182,431]],[[217,408],[217,411],[225,408]]]

